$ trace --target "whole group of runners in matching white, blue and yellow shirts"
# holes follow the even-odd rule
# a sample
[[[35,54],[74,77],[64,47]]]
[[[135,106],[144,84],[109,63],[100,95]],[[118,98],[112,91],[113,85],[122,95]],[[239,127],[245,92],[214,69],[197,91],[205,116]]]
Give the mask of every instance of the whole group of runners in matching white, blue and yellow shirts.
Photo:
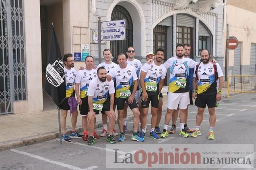
[[[197,137],[201,135],[200,124],[206,105],[210,114],[208,139],[215,139],[215,106],[216,102],[221,100],[223,73],[219,64],[215,60],[211,60],[211,55],[207,49],[201,51],[200,63],[190,58],[190,49],[189,44],[178,44],[176,56],[167,59],[163,64],[165,51],[161,48],[157,49],[155,54],[148,53],[146,55],[147,62],[143,66],[139,60],[134,59],[135,50],[133,47],[129,47],[126,54],[120,53],[118,55],[118,64],[111,61],[111,51],[105,49],[103,51],[105,59],[103,63],[100,63],[96,68],[94,58],[87,56],[85,59],[86,67],[79,71],[74,69],[72,54],[65,54],[63,61],[65,64],[66,99],[60,105],[62,140],[69,142],[70,138],[83,138],[83,141],[88,141],[87,145],[93,145],[95,140],[99,138],[95,132],[95,115],[101,111],[103,130],[100,136],[107,136],[107,142],[111,144],[116,143],[114,136],[118,136],[118,141],[124,141],[128,129],[126,122],[128,107],[133,113],[131,139],[134,141],[143,142],[146,131],[150,132],[150,137],[155,140],[174,134],[179,110],[179,135],[187,138],[190,136],[188,133],[192,133],[191,137]],[[167,75],[167,69],[170,69],[167,112],[164,128],[161,132],[159,128],[163,105],[161,89]],[[217,88],[218,79],[219,87]],[[77,102],[74,98],[75,95]],[[188,105],[193,104],[192,97],[198,107],[194,129],[190,129],[187,125]],[[151,103],[151,128],[147,130],[149,103]],[[83,135],[76,132],[77,105],[79,105],[80,115],[82,115]],[[114,129],[116,108],[120,135]],[[68,110],[72,114],[70,136],[66,134]],[[109,118],[108,125],[107,118]],[[172,127],[168,132],[171,118]]]

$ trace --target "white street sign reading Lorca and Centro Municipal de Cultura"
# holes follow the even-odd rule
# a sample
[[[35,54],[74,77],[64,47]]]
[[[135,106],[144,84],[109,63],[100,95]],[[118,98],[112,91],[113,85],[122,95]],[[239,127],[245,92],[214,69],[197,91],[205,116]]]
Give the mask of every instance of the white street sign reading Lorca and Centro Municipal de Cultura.
[[[126,20],[102,22],[102,40],[126,40]]]

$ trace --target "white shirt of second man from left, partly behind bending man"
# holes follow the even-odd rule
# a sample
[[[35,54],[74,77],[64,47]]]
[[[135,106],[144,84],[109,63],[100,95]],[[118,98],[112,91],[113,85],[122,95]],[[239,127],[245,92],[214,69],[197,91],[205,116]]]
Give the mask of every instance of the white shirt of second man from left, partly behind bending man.
[[[83,69],[76,73],[75,83],[80,83],[80,97],[84,98],[87,96],[89,83],[93,78],[97,77],[97,69]]]

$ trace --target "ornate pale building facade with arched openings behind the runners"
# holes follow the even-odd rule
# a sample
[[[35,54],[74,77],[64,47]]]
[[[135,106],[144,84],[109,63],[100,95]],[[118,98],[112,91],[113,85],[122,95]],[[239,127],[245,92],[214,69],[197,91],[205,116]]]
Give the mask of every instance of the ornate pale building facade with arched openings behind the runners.
[[[83,59],[85,50],[96,64],[93,38],[100,16],[126,19],[126,40],[102,43],[102,51],[111,49],[113,57],[133,46],[144,63],[146,53],[161,47],[167,60],[178,43],[189,43],[191,57],[198,60],[207,48],[223,67],[222,0],[1,0],[0,7],[0,114],[39,111],[50,102],[43,81],[51,22],[62,55]],[[83,65],[75,62],[76,69]]]

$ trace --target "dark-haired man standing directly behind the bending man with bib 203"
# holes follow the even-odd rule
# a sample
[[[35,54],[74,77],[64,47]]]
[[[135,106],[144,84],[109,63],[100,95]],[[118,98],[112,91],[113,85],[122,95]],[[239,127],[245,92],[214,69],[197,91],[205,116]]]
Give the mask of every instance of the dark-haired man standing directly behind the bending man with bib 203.
[[[111,69],[115,69],[116,67],[118,67],[118,65],[116,63],[111,61],[111,56],[112,56],[112,53],[111,53],[110,49],[104,49],[103,50],[104,62],[100,63],[97,66],[97,68],[104,67],[107,70],[107,74],[109,74],[109,71]],[[114,83],[116,83],[116,82],[114,81]],[[115,109],[116,109],[116,99],[114,101],[114,110]],[[103,130],[101,131],[101,137],[104,137],[108,134],[108,132],[107,132],[107,115],[103,113],[101,115],[101,119],[102,119],[102,123],[103,123]],[[116,132],[115,129],[113,132],[113,136],[118,136],[118,133]]]

